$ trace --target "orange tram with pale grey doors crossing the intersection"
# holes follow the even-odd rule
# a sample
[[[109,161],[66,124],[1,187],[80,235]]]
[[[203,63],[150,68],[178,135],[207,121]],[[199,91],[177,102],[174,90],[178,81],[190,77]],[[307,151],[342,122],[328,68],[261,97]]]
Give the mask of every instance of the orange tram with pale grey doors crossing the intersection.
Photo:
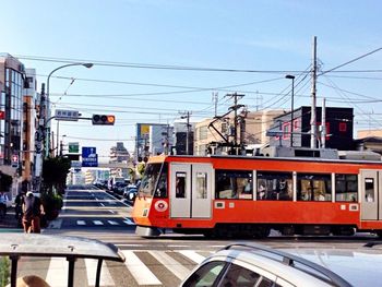
[[[382,162],[264,156],[153,156],[133,207],[136,234],[382,237]]]

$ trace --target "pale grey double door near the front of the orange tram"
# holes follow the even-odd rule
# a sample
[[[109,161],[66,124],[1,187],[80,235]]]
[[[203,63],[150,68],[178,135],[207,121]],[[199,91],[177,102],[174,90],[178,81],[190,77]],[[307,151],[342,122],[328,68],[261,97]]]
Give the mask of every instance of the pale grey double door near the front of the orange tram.
[[[211,217],[212,166],[170,165],[170,217]]]

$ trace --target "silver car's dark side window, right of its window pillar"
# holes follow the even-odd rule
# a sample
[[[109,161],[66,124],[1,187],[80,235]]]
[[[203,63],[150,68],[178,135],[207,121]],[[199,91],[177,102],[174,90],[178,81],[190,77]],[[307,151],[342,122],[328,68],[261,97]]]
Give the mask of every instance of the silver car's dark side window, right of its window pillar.
[[[253,271],[247,270],[236,264],[231,264],[226,272],[222,284],[223,287],[254,287],[260,275]],[[264,285],[267,286],[267,285]],[[270,285],[271,286],[271,285]]]

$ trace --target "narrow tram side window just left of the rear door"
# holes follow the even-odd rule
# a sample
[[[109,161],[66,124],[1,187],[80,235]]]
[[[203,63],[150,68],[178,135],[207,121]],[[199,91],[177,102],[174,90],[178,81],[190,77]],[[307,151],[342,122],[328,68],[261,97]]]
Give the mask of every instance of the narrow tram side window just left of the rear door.
[[[357,175],[335,175],[335,201],[358,201]]]

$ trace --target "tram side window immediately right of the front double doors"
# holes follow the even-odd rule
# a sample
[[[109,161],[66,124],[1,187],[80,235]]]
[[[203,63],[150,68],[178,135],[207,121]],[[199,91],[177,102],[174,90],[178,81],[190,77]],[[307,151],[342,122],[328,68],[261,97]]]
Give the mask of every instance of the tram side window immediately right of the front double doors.
[[[216,199],[252,200],[252,170],[216,170]]]

